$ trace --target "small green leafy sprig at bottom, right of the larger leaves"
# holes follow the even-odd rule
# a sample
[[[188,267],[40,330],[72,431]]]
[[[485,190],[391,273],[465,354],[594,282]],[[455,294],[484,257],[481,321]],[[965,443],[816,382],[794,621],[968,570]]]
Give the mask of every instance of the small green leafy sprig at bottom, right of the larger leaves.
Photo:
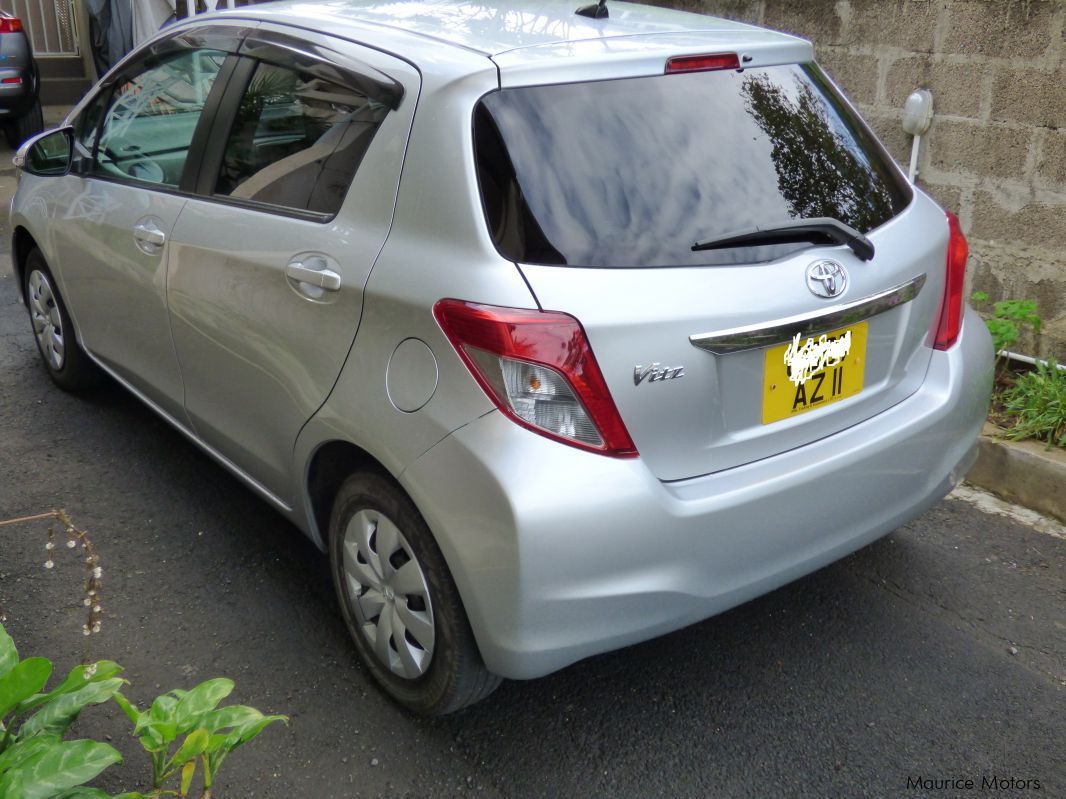
[[[174,792],[165,790],[164,785],[179,774],[177,795],[188,796],[197,762],[203,765],[200,799],[210,799],[211,786],[229,753],[275,721],[288,721],[285,716],[264,716],[246,705],[217,707],[232,690],[232,680],[208,680],[192,690],[163,694],[146,711],[139,711],[122,694],[115,694],[115,701],[133,722],[133,734],[151,757],[152,790],[130,795],[129,799],[173,796]]]

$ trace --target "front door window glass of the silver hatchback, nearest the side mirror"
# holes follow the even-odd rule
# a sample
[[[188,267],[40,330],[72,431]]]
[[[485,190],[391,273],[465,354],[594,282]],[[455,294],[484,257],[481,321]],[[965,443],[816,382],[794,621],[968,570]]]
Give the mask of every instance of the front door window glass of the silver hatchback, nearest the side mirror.
[[[177,186],[225,60],[217,50],[189,50],[149,62],[119,82],[100,129],[93,172]]]

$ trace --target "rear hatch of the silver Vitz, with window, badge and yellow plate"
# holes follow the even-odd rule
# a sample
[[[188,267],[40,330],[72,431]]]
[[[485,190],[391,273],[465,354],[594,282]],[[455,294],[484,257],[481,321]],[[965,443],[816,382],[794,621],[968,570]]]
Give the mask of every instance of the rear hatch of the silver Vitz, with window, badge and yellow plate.
[[[474,129],[498,249],[584,326],[660,479],[802,446],[921,385],[944,215],[818,66],[504,87]],[[873,257],[833,230],[713,244],[810,218]]]

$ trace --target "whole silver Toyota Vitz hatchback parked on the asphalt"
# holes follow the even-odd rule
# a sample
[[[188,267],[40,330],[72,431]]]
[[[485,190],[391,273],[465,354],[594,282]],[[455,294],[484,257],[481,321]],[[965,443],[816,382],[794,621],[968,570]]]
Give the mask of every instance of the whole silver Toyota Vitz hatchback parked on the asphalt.
[[[16,159],[52,379],[111,375],[328,551],[420,713],[889,533],[987,407],[958,223],[807,42],[576,4],[197,17]]]

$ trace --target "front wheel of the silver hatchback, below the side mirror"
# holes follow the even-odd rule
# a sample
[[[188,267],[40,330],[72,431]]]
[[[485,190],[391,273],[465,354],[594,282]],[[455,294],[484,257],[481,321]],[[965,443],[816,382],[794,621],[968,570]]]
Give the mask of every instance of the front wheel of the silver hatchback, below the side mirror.
[[[48,376],[64,391],[83,391],[98,386],[103,377],[78,343],[70,314],[60,296],[55,278],[39,249],[26,257],[22,270],[22,296],[30,311],[30,325],[37,342],[37,353]],[[55,336],[52,337],[54,331]],[[49,348],[48,341],[61,342],[61,353]]]

